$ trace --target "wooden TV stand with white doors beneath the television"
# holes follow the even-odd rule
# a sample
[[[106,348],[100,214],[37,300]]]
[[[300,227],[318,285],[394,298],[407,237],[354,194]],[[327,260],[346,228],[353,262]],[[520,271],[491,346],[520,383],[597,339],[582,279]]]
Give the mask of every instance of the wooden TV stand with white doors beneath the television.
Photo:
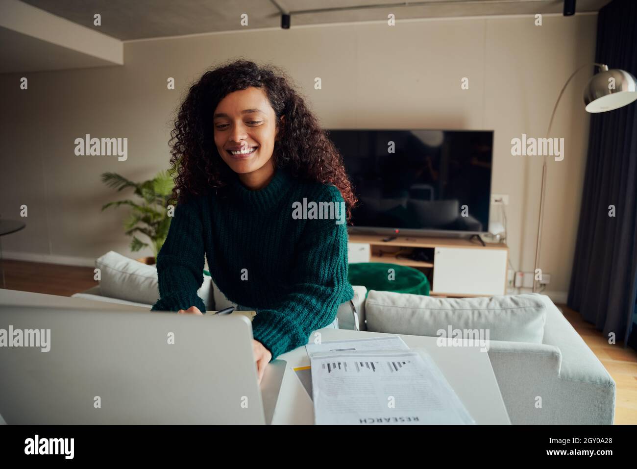
[[[506,293],[508,247],[506,244],[483,246],[475,238],[429,238],[397,235],[348,235],[351,253],[369,245],[368,262],[385,262],[416,268],[427,275],[431,296],[491,296]],[[414,248],[423,248],[429,261],[409,259]],[[405,257],[396,258],[396,254]],[[350,261],[352,262],[352,261]]]

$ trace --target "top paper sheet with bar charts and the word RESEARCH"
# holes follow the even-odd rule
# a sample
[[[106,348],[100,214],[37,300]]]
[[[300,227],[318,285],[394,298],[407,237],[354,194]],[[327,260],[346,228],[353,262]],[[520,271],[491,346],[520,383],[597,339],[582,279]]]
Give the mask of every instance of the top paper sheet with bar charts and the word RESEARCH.
[[[423,350],[327,350],[310,366],[316,424],[475,424]]]

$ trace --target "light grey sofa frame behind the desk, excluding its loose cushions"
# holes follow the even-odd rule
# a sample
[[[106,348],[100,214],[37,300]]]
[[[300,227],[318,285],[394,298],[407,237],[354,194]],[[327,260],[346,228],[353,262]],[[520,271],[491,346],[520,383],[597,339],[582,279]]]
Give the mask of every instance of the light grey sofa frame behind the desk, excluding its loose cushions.
[[[219,296],[216,285],[212,284],[212,287],[217,299],[215,310],[233,304],[227,299],[220,304],[218,299],[225,297]],[[338,308],[339,328],[370,330],[366,317],[367,289],[361,285],[353,287],[354,299]],[[403,298],[401,294],[394,295],[397,296],[393,298]],[[73,297],[151,307],[144,303],[102,296],[99,285],[76,293]],[[537,298],[541,298],[546,310],[541,343],[508,340],[489,342],[489,359],[511,422],[612,424],[615,415],[615,381],[550,298],[545,295],[537,295]],[[378,310],[378,305],[375,307]],[[387,305],[388,309],[390,307]],[[493,326],[496,328],[497,324]],[[397,333],[390,323],[371,330]],[[417,335],[413,332],[400,333]],[[538,396],[541,398],[541,408],[536,407]]]

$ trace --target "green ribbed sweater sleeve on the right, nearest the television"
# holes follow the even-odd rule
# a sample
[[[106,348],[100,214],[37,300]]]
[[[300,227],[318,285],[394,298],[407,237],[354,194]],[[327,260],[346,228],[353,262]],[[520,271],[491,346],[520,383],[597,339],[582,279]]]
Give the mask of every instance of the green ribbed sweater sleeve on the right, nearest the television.
[[[338,198],[342,200],[340,194]],[[310,333],[333,322],[340,303],[354,296],[348,281],[345,223],[307,220],[296,251],[290,275],[294,284],[275,308],[259,308],[252,321],[255,340],[272,359],[306,345]]]

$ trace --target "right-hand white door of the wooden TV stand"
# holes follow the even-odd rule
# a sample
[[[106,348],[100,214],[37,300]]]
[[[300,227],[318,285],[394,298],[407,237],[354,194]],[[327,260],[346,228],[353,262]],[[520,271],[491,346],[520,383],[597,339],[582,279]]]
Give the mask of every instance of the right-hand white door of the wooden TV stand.
[[[436,247],[436,293],[503,295],[506,285],[506,249]]]

